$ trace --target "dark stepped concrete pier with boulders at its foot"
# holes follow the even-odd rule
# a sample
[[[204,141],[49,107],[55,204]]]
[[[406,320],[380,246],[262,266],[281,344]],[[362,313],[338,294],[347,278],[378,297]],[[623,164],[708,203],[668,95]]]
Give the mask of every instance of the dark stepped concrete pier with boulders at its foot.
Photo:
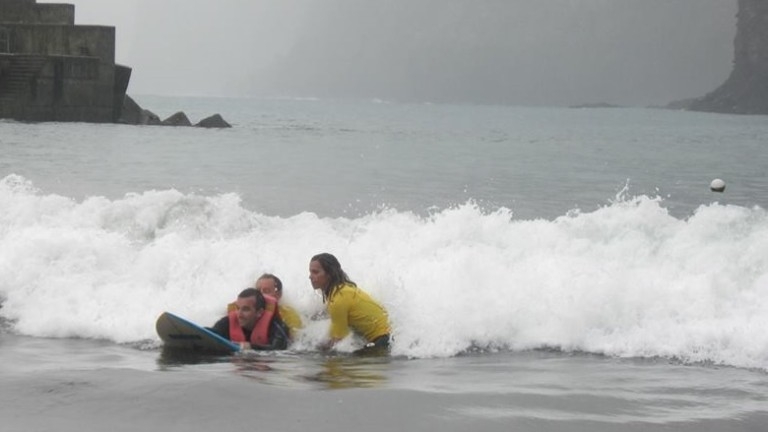
[[[0,118],[191,126],[139,107],[131,72],[115,63],[115,28],[75,25],[75,5],[0,0]],[[218,114],[196,126],[230,127]]]

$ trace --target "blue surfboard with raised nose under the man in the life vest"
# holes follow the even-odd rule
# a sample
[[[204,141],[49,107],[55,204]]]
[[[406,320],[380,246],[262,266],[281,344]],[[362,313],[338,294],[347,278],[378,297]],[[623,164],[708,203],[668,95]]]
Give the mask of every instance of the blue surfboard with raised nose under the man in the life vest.
[[[170,312],[163,312],[157,318],[155,329],[168,348],[211,353],[240,351],[240,345]]]

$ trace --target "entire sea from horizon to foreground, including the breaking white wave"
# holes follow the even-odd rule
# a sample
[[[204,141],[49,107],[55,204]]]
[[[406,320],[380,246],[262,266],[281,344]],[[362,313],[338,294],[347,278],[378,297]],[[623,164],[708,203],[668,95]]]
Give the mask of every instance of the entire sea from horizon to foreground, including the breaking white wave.
[[[0,120],[3,430],[766,430],[765,116],[136,99],[233,128]],[[319,252],[390,357],[315,350]],[[263,272],[288,352],[162,349]]]

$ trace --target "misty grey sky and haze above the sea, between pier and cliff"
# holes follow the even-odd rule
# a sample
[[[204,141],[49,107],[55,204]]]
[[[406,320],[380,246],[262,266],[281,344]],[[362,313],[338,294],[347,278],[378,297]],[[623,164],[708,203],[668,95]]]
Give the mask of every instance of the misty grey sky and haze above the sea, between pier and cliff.
[[[39,1],[43,2],[43,1]],[[660,105],[728,76],[736,0],[69,0],[130,94]]]

